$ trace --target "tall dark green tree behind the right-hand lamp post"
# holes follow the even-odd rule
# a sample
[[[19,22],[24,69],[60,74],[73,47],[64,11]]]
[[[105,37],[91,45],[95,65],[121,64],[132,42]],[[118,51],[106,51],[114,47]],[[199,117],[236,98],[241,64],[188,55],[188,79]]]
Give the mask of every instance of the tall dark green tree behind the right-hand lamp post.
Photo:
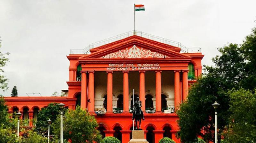
[[[232,115],[228,92],[240,88],[253,90],[256,87],[256,28],[243,44],[231,43],[218,50],[220,56],[212,58],[214,66],[204,66],[205,73],[189,89],[187,100],[180,104],[177,111],[180,117],[177,136],[184,143],[196,141],[198,135],[213,141],[214,109],[211,104],[215,101],[220,103],[219,132],[226,131]]]

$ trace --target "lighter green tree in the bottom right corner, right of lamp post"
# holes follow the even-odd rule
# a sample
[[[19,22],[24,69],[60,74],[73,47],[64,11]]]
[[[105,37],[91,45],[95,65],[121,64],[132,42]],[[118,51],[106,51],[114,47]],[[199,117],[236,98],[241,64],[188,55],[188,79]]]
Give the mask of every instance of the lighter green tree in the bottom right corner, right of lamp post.
[[[228,143],[256,142],[256,94],[250,90],[231,90],[229,125],[224,133]]]

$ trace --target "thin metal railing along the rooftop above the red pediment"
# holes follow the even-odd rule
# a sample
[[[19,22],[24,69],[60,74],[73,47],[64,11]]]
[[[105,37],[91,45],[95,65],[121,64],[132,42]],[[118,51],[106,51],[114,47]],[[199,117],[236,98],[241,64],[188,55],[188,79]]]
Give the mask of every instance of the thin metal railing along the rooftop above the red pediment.
[[[108,43],[114,42],[114,41],[118,41],[127,37],[130,37],[132,35],[137,35],[140,37],[144,37],[153,41],[158,41],[164,44],[168,44],[171,46],[175,46],[175,47],[179,47],[181,50],[181,53],[200,53],[201,52],[201,48],[188,48],[184,45],[182,45],[180,42],[177,41],[172,41],[172,40],[168,40],[162,37],[158,37],[158,36],[154,36],[151,34],[147,34],[141,31],[129,31],[114,37],[110,37],[108,39],[104,39],[98,42],[94,42],[92,44],[90,44],[89,46],[85,47],[84,49],[71,49],[70,50],[70,54],[90,54],[90,49],[102,46],[102,45],[106,45]]]

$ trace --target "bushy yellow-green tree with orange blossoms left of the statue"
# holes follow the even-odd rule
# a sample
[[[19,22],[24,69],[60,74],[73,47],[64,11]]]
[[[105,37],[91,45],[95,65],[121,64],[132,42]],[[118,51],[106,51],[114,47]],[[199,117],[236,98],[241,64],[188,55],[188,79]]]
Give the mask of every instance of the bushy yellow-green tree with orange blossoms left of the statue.
[[[53,133],[60,136],[60,116],[58,116],[55,123],[52,124]],[[65,113],[63,120],[63,138],[71,139],[72,142],[84,143],[87,142],[100,142],[101,135],[96,129],[98,123],[94,116],[81,109],[80,106],[76,110],[68,110]]]

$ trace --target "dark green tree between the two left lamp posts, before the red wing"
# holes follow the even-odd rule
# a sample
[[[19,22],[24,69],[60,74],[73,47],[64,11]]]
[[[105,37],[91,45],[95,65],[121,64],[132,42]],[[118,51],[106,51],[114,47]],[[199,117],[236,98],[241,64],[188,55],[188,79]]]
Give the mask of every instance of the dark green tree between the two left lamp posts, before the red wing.
[[[46,108],[42,108],[37,115],[36,130],[39,133],[48,133],[48,122],[50,118],[52,122],[55,122],[58,115],[60,115],[59,103],[50,103]],[[52,126],[50,131],[52,132]]]

